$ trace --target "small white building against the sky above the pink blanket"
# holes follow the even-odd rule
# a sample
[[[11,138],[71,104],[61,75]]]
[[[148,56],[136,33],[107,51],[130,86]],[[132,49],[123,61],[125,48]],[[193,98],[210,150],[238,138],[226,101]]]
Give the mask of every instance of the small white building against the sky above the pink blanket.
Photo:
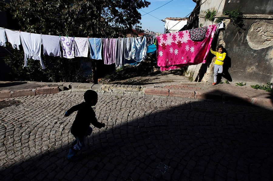
[[[165,18],[162,20],[165,22],[164,32],[173,33],[181,30],[185,25],[187,25],[188,18]]]

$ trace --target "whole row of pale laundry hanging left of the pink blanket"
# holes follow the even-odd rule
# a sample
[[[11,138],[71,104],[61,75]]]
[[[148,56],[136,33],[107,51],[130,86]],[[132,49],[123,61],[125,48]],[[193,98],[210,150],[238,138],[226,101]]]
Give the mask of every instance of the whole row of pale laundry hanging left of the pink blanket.
[[[64,58],[88,57],[90,50],[91,59],[104,60],[105,64],[115,63],[116,66],[123,66],[126,59],[132,59],[134,63],[141,62],[147,56],[146,37],[84,38],[54,36],[14,31],[0,27],[0,46],[5,47],[6,42],[11,43],[12,48],[18,50],[19,45],[22,44],[25,54],[24,66],[27,66],[27,59],[32,58],[40,60],[43,69],[45,69],[45,66],[41,57],[42,45],[43,55]],[[60,50],[60,47],[62,47],[62,50]]]

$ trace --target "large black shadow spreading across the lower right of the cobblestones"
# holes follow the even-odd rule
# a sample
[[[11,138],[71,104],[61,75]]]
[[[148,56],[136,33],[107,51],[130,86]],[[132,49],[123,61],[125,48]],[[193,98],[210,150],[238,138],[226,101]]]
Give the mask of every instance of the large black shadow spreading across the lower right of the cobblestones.
[[[149,102],[152,98],[144,103]],[[101,106],[112,118],[106,131],[88,138],[84,159],[68,161],[71,143],[63,144],[2,167],[2,180],[272,180],[271,109],[211,101],[164,109],[167,100],[162,102],[149,110],[145,104],[128,111],[117,104],[116,112]],[[138,116],[143,111],[145,116]]]

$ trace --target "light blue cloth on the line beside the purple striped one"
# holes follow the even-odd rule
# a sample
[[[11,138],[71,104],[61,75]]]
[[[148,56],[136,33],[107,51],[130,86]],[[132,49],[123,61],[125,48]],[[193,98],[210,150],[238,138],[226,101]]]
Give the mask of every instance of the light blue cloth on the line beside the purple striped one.
[[[102,60],[102,38],[89,38],[90,58]]]

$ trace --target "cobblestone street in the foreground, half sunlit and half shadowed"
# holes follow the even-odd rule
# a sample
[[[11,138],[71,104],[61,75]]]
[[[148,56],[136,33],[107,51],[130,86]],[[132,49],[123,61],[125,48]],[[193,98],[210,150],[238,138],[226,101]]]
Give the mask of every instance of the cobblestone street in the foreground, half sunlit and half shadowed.
[[[1,180],[272,180],[273,109],[99,94],[94,128],[67,160],[82,94],[17,97],[0,109]],[[93,126],[92,126],[93,127]]]

